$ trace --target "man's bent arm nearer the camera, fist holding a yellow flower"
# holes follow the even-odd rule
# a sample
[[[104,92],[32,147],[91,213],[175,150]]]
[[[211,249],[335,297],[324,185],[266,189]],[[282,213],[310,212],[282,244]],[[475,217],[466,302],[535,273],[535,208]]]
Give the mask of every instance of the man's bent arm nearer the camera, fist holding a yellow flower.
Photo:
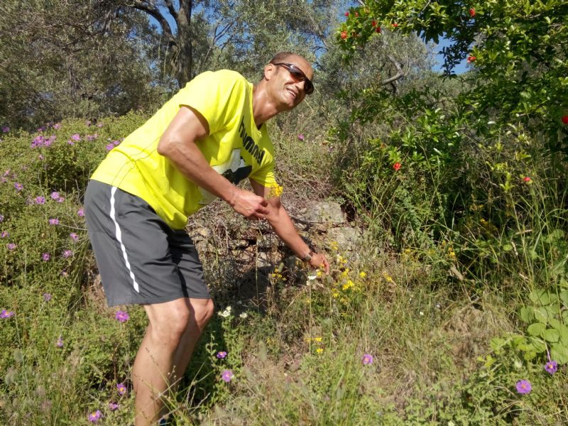
[[[228,202],[248,219],[264,219],[268,202],[252,192],[241,190],[219,175],[207,163],[195,141],[209,135],[207,120],[195,109],[181,107],[158,142],[158,153],[196,185]]]

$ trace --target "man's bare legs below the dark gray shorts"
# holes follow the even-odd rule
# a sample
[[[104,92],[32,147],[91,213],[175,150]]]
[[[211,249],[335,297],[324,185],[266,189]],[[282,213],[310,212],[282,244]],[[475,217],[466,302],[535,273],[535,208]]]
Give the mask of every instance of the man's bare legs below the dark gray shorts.
[[[160,397],[170,385],[171,373],[174,369],[185,371],[191,352],[212,316],[213,304],[207,300],[181,298],[144,305],[150,324],[132,371],[136,426],[151,425],[160,418],[163,408]]]

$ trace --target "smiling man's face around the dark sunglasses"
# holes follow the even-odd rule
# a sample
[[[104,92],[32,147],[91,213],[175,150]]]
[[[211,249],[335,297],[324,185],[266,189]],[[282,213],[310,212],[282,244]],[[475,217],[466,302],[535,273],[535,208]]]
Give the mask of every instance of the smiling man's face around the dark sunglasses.
[[[301,56],[290,55],[282,62],[295,65],[302,70],[307,78],[312,80],[314,70],[307,60]],[[284,110],[293,109],[297,104],[300,104],[306,96],[305,82],[300,81],[285,66],[269,64],[268,67],[272,67],[269,85],[276,102],[282,104]]]

